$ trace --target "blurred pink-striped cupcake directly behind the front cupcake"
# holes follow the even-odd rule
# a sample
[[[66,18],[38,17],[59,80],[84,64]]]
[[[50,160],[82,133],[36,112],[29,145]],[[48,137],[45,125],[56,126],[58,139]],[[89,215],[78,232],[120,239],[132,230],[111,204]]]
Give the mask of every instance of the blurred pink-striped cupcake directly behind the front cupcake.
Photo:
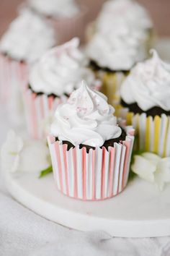
[[[31,137],[45,136],[46,124],[50,123],[56,106],[67,101],[82,79],[99,89],[100,82],[87,66],[88,60],[79,49],[79,38],[73,38],[48,51],[32,67],[24,95]]]

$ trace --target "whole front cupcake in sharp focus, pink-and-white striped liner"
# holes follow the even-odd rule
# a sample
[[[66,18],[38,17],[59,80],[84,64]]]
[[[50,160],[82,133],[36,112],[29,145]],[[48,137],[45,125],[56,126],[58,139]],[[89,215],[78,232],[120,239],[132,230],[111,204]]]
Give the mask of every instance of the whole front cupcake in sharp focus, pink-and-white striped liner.
[[[104,200],[125,189],[133,129],[118,126],[113,113],[107,98],[84,82],[56,109],[48,145],[55,183],[63,194]]]

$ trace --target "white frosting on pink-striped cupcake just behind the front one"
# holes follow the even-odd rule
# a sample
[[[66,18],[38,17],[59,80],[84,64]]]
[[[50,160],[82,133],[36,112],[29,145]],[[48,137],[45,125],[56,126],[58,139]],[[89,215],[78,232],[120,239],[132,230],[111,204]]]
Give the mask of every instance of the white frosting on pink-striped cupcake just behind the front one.
[[[87,64],[85,55],[79,50],[79,39],[73,38],[48,51],[32,67],[29,79],[32,90],[60,96],[70,95],[74,88],[79,88],[81,80],[93,85],[94,74],[86,68]]]

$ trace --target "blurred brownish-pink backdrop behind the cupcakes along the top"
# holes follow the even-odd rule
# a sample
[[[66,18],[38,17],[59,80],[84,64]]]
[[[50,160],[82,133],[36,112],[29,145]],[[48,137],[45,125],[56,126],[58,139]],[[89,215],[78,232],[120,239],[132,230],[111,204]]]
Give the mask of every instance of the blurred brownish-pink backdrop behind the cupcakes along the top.
[[[23,0],[0,0],[0,35],[17,14],[17,5]],[[138,0],[151,14],[158,35],[170,36],[170,0]],[[104,0],[81,0],[89,7],[86,22],[94,20]]]

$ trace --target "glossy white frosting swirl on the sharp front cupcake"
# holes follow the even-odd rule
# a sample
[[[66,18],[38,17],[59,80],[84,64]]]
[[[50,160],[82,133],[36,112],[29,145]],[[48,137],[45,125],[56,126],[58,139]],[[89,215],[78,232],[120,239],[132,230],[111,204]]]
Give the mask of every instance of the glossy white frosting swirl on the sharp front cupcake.
[[[106,140],[120,137],[122,133],[113,116],[114,111],[106,96],[82,82],[68,102],[55,111],[51,134],[73,145],[101,147]]]

